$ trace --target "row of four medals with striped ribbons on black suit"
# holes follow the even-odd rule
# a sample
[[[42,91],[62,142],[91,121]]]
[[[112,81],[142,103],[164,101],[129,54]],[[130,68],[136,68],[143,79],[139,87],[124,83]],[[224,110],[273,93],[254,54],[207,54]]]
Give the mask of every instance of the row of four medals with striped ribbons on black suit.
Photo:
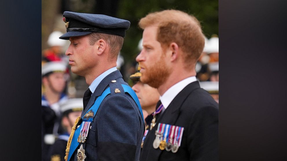
[[[161,123],[159,123],[158,127],[160,126]],[[163,130],[163,132],[166,131],[166,128],[167,127],[170,127],[172,130],[171,130],[171,133],[167,134],[167,136],[165,136],[163,138],[163,132],[159,132],[159,128],[158,130],[155,132],[155,139],[153,141],[153,144],[152,146],[154,147],[154,149],[161,149],[161,150],[166,150],[166,151],[172,151],[173,153],[176,153],[179,149],[179,141],[177,140],[177,136],[175,136],[174,134],[174,130],[173,129],[180,129],[182,128],[183,130],[183,127],[179,127],[179,126],[174,126],[174,125],[168,125],[168,124],[164,124],[162,126],[165,126],[165,129]],[[177,127],[177,128],[176,128]],[[170,135],[171,134],[171,135]],[[176,134],[178,135],[178,132],[176,132]],[[166,143],[166,138],[170,135],[170,138],[169,138],[169,142]],[[176,142],[173,144],[173,140],[174,138],[176,139]],[[179,138],[181,139],[181,138]]]

